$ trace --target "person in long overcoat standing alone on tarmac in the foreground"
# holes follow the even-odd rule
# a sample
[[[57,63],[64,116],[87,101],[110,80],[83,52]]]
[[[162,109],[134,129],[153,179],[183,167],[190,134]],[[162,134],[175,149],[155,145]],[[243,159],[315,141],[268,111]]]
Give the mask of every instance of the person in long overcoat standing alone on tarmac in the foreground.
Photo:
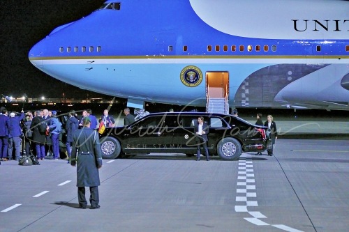
[[[84,117],[82,118],[82,129],[74,132],[70,164],[73,167],[77,165],[78,208],[87,208],[85,187],[89,187],[90,209],[97,209],[101,207],[98,204],[98,185],[101,185],[98,169],[102,167],[102,152],[97,131],[92,130],[89,127],[90,124],[90,118]]]

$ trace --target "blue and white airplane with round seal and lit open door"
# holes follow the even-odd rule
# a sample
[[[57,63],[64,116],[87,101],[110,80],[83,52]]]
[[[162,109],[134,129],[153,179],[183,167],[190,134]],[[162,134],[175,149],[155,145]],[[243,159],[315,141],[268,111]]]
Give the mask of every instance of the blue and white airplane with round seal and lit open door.
[[[29,60],[140,109],[348,110],[348,15],[343,0],[110,0],[54,29]]]

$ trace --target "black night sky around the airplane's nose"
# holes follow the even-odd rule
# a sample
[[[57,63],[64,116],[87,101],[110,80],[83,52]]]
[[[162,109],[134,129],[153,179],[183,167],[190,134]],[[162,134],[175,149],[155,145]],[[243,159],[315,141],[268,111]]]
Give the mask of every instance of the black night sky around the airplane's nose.
[[[105,0],[6,0],[0,1],[0,95],[20,98],[103,97],[46,75],[28,59],[29,49],[54,28],[79,20]],[[110,97],[108,97],[110,98]]]

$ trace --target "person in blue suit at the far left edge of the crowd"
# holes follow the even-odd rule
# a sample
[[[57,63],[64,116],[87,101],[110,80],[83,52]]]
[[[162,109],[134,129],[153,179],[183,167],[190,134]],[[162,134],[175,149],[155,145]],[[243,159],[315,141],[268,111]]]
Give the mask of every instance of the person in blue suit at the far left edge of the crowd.
[[[5,107],[1,107],[0,115],[0,160],[7,161],[8,132],[10,130],[10,119]],[[1,162],[0,162],[1,164]]]

